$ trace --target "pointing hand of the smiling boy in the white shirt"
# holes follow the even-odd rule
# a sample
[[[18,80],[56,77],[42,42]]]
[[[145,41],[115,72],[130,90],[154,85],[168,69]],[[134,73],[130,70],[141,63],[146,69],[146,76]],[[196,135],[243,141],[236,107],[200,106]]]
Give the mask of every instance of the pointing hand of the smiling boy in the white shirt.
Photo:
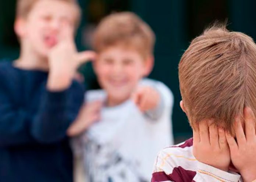
[[[145,112],[157,107],[160,102],[160,94],[152,87],[140,87],[132,94],[132,100],[142,112]]]

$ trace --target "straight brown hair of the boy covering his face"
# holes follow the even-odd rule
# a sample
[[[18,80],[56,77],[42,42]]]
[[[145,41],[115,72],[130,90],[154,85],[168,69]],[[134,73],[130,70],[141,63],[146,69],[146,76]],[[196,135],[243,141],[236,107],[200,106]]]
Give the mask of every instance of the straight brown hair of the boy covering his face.
[[[233,133],[237,116],[256,114],[256,44],[225,25],[196,37],[179,62],[182,100],[192,128],[203,120]]]

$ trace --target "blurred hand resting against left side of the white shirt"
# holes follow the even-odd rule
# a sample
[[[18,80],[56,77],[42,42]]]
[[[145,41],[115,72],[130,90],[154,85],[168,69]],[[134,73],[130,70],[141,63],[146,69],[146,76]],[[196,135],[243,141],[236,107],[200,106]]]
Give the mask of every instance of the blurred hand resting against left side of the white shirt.
[[[101,101],[94,101],[82,106],[77,119],[71,124],[67,130],[70,137],[81,134],[88,129],[93,123],[100,120]]]

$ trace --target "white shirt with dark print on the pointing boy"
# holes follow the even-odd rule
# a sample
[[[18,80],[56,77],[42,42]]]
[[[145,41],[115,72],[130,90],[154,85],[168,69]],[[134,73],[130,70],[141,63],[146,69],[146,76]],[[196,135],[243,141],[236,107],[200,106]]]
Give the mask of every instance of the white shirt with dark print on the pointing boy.
[[[143,79],[139,86],[143,85],[160,93],[157,118],[151,116],[155,111],[142,113],[131,100],[103,107],[101,120],[75,142],[82,145],[75,148],[82,149],[88,182],[150,182],[157,153],[173,145],[173,94],[159,81]],[[85,97],[86,102],[104,101],[107,95],[91,90]]]

